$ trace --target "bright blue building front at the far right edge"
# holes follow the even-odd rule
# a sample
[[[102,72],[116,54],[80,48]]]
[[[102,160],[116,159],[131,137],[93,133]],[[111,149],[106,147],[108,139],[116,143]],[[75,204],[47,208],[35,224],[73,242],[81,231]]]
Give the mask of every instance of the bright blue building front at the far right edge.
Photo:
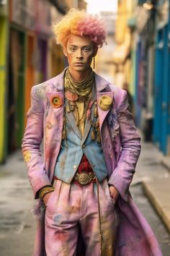
[[[170,4],[156,5],[153,140],[170,155]]]

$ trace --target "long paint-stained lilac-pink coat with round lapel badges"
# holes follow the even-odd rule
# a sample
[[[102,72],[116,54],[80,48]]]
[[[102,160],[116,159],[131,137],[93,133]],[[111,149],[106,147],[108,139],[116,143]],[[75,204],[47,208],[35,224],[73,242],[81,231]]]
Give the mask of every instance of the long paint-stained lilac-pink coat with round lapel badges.
[[[63,76],[64,72],[32,88],[32,106],[27,114],[22,150],[35,198],[38,189],[51,184],[55,162],[61,148],[64,109]],[[140,137],[128,110],[127,94],[97,74],[95,74],[95,83],[102,148],[108,169],[109,184],[114,184],[120,193],[117,200],[120,223],[115,256],[161,256],[153,231],[136,207],[129,192],[135,164],[140,154]],[[112,109],[104,111],[99,108],[99,99],[102,95],[109,95],[113,99]],[[59,107],[53,104],[53,98],[59,99]],[[40,151],[42,138],[43,156]],[[40,201],[35,208],[35,214],[37,231],[33,255],[45,256],[45,210],[42,209]]]

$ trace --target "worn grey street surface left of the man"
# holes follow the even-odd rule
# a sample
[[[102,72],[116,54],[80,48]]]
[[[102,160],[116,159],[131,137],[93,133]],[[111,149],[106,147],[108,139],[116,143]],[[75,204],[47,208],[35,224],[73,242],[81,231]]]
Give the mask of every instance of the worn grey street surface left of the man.
[[[0,188],[0,255],[30,256],[35,236],[34,200],[20,151],[0,166]]]

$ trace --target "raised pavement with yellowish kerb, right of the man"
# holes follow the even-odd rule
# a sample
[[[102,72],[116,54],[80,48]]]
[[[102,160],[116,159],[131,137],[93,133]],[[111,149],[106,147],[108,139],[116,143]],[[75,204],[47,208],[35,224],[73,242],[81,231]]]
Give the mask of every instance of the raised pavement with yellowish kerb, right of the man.
[[[170,233],[170,161],[153,143],[143,142],[132,184],[142,183],[151,201]],[[141,168],[142,166],[142,168]]]

